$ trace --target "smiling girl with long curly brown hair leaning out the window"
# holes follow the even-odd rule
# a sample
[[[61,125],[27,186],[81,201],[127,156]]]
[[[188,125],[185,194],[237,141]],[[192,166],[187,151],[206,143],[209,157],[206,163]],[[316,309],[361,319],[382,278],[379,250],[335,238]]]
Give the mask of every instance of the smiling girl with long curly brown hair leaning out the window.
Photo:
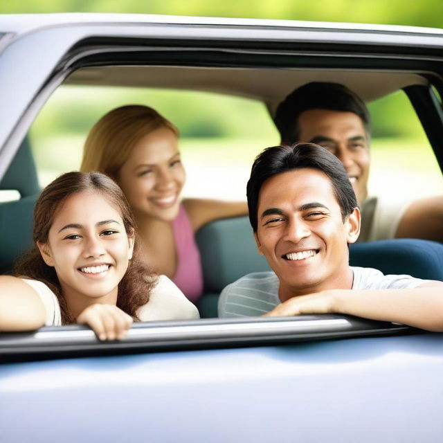
[[[0,276],[0,330],[81,323],[100,340],[121,339],[134,320],[198,318],[164,275],[137,258],[129,205],[105,174],[68,172],[42,192],[35,246],[20,277]]]

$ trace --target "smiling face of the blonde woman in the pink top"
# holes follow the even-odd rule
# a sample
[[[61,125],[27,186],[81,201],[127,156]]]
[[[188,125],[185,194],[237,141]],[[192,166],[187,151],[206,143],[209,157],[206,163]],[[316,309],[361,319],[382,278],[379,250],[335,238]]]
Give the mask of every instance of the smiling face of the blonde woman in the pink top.
[[[177,217],[186,174],[174,132],[161,127],[141,138],[117,179],[138,217],[164,221]]]

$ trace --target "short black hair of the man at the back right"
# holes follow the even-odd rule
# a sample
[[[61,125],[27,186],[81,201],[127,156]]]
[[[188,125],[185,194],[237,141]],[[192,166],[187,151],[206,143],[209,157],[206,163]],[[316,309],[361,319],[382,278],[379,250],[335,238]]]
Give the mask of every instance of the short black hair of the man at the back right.
[[[280,132],[282,144],[291,145],[300,141],[298,117],[309,109],[353,112],[361,118],[368,138],[370,136],[370,114],[356,93],[343,84],[311,82],[291,92],[275,111],[274,123]]]

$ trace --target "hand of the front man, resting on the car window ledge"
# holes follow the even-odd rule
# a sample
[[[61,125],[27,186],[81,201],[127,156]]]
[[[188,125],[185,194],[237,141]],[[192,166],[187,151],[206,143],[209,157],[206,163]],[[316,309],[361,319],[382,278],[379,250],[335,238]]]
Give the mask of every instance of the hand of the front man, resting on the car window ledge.
[[[299,316],[301,314],[329,314],[337,312],[334,309],[333,291],[312,293],[307,296],[289,298],[280,303],[272,311],[264,314],[266,317]]]

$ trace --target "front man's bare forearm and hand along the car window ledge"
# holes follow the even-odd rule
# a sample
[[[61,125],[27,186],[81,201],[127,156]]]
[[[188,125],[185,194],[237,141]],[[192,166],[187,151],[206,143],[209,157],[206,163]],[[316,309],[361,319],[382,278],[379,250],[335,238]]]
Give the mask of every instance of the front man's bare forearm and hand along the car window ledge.
[[[351,314],[443,332],[443,282],[413,289],[332,289],[290,298],[266,316]]]

